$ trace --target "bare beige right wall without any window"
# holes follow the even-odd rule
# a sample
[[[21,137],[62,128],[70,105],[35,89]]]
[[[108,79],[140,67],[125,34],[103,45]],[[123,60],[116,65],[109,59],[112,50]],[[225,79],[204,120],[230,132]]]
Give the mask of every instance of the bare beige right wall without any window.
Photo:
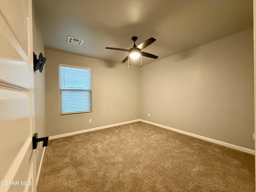
[[[143,66],[140,118],[254,149],[253,59],[250,28]]]

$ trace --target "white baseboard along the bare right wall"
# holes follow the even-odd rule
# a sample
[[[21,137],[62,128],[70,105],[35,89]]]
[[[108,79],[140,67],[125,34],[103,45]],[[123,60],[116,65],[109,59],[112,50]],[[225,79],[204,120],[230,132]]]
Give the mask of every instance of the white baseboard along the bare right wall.
[[[226,143],[226,142],[214,140],[214,139],[211,139],[211,138],[196,135],[196,134],[189,133],[189,132],[186,132],[186,131],[174,129],[174,128],[164,126],[164,125],[160,125],[160,124],[157,124],[157,123],[153,123],[153,122],[150,122],[150,121],[146,121],[146,120],[142,120],[142,119],[140,119],[140,121],[144,122],[144,123],[152,124],[152,125],[155,125],[155,126],[158,126],[158,127],[162,127],[162,128],[168,129],[168,130],[172,130],[172,131],[175,131],[175,132],[178,132],[178,133],[189,135],[189,136],[192,136],[192,137],[195,137],[195,138],[198,138],[198,139],[202,139],[202,140],[205,140],[205,141],[208,141],[208,142],[212,142],[212,143],[215,143],[215,144],[219,144],[219,145],[222,145],[222,146],[226,146],[226,147],[229,147],[229,148],[232,148],[232,149],[236,149],[236,150],[239,150],[239,151],[242,151],[242,152],[246,152],[246,153],[255,155],[255,151],[251,150],[251,149],[248,149],[248,148],[236,146],[236,145],[233,145],[233,144],[229,144],[229,143]]]

